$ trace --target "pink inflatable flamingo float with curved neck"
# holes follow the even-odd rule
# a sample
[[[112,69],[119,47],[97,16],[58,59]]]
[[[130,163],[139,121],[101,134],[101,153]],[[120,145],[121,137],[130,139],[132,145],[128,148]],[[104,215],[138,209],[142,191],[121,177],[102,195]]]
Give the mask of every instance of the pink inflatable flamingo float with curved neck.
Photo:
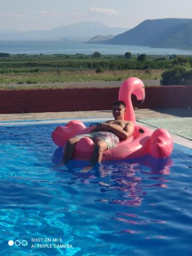
[[[104,151],[102,161],[139,158],[146,155],[155,158],[168,157],[173,150],[172,137],[165,129],[152,132],[143,125],[135,124],[131,94],[134,94],[139,101],[144,100],[143,82],[136,77],[128,78],[122,83],[118,97],[126,104],[124,120],[134,122],[134,133],[130,138],[119,142],[116,147]],[[69,138],[89,133],[93,128],[94,126],[86,127],[81,121],[74,120],[65,126],[58,126],[52,133],[52,138],[56,145],[63,147]],[[90,138],[83,137],[75,147],[74,159],[89,160],[93,154],[93,148],[94,142]]]

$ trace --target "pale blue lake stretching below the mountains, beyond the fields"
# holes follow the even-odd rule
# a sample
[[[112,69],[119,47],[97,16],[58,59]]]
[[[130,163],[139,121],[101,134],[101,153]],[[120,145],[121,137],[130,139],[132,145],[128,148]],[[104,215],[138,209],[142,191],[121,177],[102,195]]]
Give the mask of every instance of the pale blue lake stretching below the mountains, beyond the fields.
[[[64,41],[0,41],[0,52],[10,54],[92,54],[98,51],[101,54],[132,54],[145,53],[147,55],[192,55],[192,50],[171,48],[151,48],[146,46],[122,46],[122,45],[93,45],[82,42]]]

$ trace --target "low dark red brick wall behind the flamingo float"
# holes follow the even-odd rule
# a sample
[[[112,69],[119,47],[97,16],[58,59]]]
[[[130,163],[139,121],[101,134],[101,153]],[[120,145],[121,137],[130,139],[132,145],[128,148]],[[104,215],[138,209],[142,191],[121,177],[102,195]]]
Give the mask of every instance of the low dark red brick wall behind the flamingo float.
[[[119,88],[0,90],[0,113],[111,110]],[[145,88],[145,108],[188,108],[192,86]],[[132,102],[137,106],[136,97]]]

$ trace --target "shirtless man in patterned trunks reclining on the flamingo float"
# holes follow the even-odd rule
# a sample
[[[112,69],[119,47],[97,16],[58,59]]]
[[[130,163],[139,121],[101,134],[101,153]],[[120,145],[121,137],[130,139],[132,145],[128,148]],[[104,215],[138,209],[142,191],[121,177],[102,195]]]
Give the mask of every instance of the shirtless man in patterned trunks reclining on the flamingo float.
[[[89,134],[81,134],[69,139],[66,144],[63,162],[67,163],[73,158],[75,145],[83,137],[89,137],[95,142],[91,166],[101,162],[103,151],[115,147],[119,141],[129,138],[134,132],[134,124],[132,121],[124,120],[125,108],[123,101],[115,102],[112,109],[114,120],[100,123]]]

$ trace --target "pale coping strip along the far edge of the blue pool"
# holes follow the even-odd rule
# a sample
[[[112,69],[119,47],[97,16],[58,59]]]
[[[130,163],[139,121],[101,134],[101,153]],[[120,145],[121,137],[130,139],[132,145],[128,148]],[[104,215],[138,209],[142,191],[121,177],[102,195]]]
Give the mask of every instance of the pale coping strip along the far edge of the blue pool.
[[[82,122],[96,122],[96,121],[106,121],[111,119],[111,116],[109,117],[85,117],[85,118],[59,118],[59,119],[41,119],[41,120],[19,120],[19,121],[0,121],[0,126],[16,126],[16,125],[33,125],[33,124],[53,124],[53,123],[68,123],[71,120],[80,120]],[[142,124],[142,122],[136,121],[136,124]],[[144,124],[144,126],[150,128],[152,131],[155,131],[157,127],[154,127],[152,125]],[[192,143],[191,140],[183,138],[179,135],[173,134],[170,132],[173,138],[173,142],[180,144],[182,146],[186,146],[188,148],[192,149]]]

